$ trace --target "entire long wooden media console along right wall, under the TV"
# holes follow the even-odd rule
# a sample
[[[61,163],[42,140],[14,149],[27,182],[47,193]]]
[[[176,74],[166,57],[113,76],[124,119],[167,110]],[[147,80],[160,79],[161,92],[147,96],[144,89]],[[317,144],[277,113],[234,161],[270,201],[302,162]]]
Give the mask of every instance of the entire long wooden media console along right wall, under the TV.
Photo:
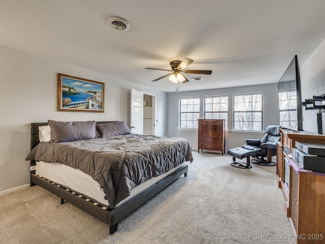
[[[277,178],[287,217],[297,244],[325,243],[325,173],[302,169],[291,159],[296,141],[325,143],[325,136],[305,131],[279,130]]]

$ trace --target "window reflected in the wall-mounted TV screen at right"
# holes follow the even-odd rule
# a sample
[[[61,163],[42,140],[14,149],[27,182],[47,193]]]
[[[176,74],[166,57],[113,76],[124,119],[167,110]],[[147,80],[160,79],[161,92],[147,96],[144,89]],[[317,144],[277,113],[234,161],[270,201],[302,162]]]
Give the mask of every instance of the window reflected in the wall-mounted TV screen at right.
[[[297,128],[297,93],[279,93],[280,126]]]

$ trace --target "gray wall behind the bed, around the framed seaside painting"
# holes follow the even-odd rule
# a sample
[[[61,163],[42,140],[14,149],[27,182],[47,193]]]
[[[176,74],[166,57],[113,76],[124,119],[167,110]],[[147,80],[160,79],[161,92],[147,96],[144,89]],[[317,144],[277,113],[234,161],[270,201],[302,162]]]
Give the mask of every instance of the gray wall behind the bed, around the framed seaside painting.
[[[0,193],[29,184],[30,123],[48,119],[125,120],[131,88],[161,94],[156,98],[156,134],[166,135],[166,93],[0,46]],[[57,73],[105,83],[105,113],[58,112]]]

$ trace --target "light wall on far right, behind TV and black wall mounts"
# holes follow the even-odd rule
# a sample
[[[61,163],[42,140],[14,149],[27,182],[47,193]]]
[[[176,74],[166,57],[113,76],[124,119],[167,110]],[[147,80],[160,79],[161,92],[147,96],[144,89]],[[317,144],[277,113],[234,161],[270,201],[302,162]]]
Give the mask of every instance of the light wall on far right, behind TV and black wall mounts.
[[[298,56],[299,62],[299,56]],[[325,40],[319,45],[307,62],[300,68],[302,99],[325,94]],[[303,129],[317,132],[316,110],[303,110]],[[322,113],[322,128],[325,135],[325,113]]]

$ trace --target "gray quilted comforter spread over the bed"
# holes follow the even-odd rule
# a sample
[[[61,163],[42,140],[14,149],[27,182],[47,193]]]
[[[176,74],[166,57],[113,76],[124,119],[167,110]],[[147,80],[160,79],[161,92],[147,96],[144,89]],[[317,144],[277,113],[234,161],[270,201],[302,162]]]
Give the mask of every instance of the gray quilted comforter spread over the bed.
[[[115,207],[144,181],[192,162],[192,149],[183,138],[137,134],[72,142],[40,142],[26,160],[65,164],[89,174]]]

